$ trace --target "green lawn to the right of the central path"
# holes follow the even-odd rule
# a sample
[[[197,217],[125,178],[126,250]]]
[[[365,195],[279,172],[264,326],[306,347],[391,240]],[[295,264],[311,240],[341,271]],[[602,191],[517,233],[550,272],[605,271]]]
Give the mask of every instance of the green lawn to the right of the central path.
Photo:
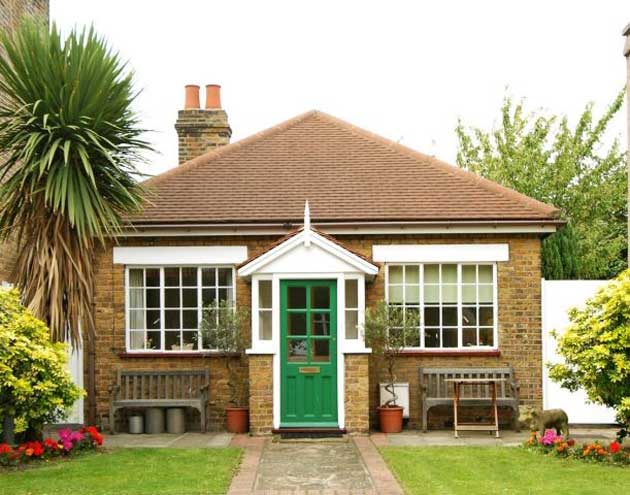
[[[406,493],[440,495],[625,493],[630,469],[508,447],[384,447]]]

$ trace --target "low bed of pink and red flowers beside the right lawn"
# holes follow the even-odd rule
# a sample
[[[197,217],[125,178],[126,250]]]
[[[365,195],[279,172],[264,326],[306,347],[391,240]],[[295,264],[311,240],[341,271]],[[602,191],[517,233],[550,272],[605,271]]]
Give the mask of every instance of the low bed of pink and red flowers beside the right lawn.
[[[525,442],[525,448],[536,450],[557,457],[571,457],[590,462],[630,465],[630,451],[621,447],[619,442],[612,441],[608,446],[599,442],[578,445],[572,438],[563,438],[555,430],[546,430],[541,437],[532,431]]]

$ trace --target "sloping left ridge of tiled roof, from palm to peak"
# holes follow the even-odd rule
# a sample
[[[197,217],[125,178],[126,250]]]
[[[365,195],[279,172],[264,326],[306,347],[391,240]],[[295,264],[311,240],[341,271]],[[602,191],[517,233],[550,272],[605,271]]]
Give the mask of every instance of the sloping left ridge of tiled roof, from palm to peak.
[[[145,180],[143,184],[147,186],[159,184],[163,180],[168,179],[174,175],[179,175],[188,170],[195,169],[200,165],[204,165],[208,162],[211,162],[212,160],[219,159],[225,156],[226,154],[232,153],[245,146],[249,146],[262,139],[265,139],[267,137],[273,136],[280,132],[286,131],[287,129],[293,127],[294,125],[299,124],[300,122],[303,122],[304,120],[308,119],[309,117],[313,117],[314,115],[317,115],[318,113],[319,113],[318,110],[309,110],[308,112],[301,113],[279,124],[263,129],[262,131],[258,131],[255,134],[251,134],[250,136],[247,136],[243,139],[239,139],[238,141],[235,141],[234,143],[226,144],[225,146],[221,146],[219,148],[207,151],[206,153],[202,155],[192,158],[191,160],[188,160],[187,162],[184,162],[176,167],[173,167],[165,172],[162,172],[161,174],[155,175]]]

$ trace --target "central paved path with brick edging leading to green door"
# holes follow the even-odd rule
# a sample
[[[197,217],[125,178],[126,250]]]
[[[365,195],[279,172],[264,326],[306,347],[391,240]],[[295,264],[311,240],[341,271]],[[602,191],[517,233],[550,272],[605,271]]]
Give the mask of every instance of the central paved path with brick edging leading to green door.
[[[245,448],[229,495],[401,495],[368,437],[345,441],[273,442],[235,437]]]

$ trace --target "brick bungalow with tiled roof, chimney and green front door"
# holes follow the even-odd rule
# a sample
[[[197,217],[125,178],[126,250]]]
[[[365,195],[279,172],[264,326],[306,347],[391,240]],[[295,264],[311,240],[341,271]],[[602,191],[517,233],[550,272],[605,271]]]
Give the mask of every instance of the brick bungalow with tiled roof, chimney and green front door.
[[[512,366],[521,403],[541,405],[540,245],[555,208],[318,111],[230,144],[218,86],[205,109],[186,88],[176,129],[180,165],[146,182],[146,208],[97,258],[104,422],[116,370],[208,367],[210,426],[223,427],[224,367],[197,330],[217,299],[251,308],[254,433],[368,430],[380,370],[361,327],[380,299],[422,315],[398,376],[409,427],[421,366]]]

